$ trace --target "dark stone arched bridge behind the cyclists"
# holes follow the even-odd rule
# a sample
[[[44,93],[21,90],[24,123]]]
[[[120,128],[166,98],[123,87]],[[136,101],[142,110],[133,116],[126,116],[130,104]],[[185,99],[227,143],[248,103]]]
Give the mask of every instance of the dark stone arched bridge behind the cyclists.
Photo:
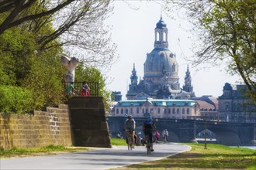
[[[123,131],[123,123],[126,117],[107,117],[109,131],[112,136],[116,136],[119,131]],[[134,117],[137,128],[142,131],[143,117]],[[168,141],[171,142],[191,142],[195,141],[196,134],[208,129],[216,134],[216,143],[221,145],[252,145],[256,144],[256,124],[254,123],[234,123],[223,121],[201,121],[185,119],[161,119],[155,121],[157,131],[164,129],[169,131]]]

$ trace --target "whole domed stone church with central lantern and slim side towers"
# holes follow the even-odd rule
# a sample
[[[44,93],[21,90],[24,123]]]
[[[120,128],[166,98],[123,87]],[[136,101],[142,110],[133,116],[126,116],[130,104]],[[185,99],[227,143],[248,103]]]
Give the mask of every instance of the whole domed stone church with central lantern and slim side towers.
[[[154,35],[154,49],[147,53],[143,80],[138,80],[135,64],[133,64],[129,90],[126,93],[127,100],[190,99],[194,97],[189,66],[185,76],[185,85],[180,88],[178,62],[175,53],[168,49],[168,28],[162,18],[156,24]]]

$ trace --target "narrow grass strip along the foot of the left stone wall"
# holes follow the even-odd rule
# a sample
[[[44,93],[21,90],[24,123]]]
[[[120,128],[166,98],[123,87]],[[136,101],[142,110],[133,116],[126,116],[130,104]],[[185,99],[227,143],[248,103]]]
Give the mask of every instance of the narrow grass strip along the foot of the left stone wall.
[[[64,152],[74,152],[87,150],[86,148],[65,148],[60,145],[48,145],[43,148],[12,148],[6,151],[0,151],[0,158],[22,157],[29,155],[53,155]]]

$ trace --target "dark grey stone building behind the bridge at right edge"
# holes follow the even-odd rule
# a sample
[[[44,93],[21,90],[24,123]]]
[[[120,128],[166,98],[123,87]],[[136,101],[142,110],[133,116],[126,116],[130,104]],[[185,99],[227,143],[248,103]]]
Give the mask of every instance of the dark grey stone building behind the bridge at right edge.
[[[223,94],[218,97],[221,121],[256,122],[256,106],[244,97],[245,85],[225,83]]]

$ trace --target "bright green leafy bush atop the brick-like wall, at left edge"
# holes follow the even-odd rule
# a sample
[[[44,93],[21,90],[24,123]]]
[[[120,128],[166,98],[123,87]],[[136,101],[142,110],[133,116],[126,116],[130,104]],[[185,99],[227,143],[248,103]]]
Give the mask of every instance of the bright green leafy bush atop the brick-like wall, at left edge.
[[[0,112],[25,114],[33,110],[33,95],[22,87],[0,86]]]

